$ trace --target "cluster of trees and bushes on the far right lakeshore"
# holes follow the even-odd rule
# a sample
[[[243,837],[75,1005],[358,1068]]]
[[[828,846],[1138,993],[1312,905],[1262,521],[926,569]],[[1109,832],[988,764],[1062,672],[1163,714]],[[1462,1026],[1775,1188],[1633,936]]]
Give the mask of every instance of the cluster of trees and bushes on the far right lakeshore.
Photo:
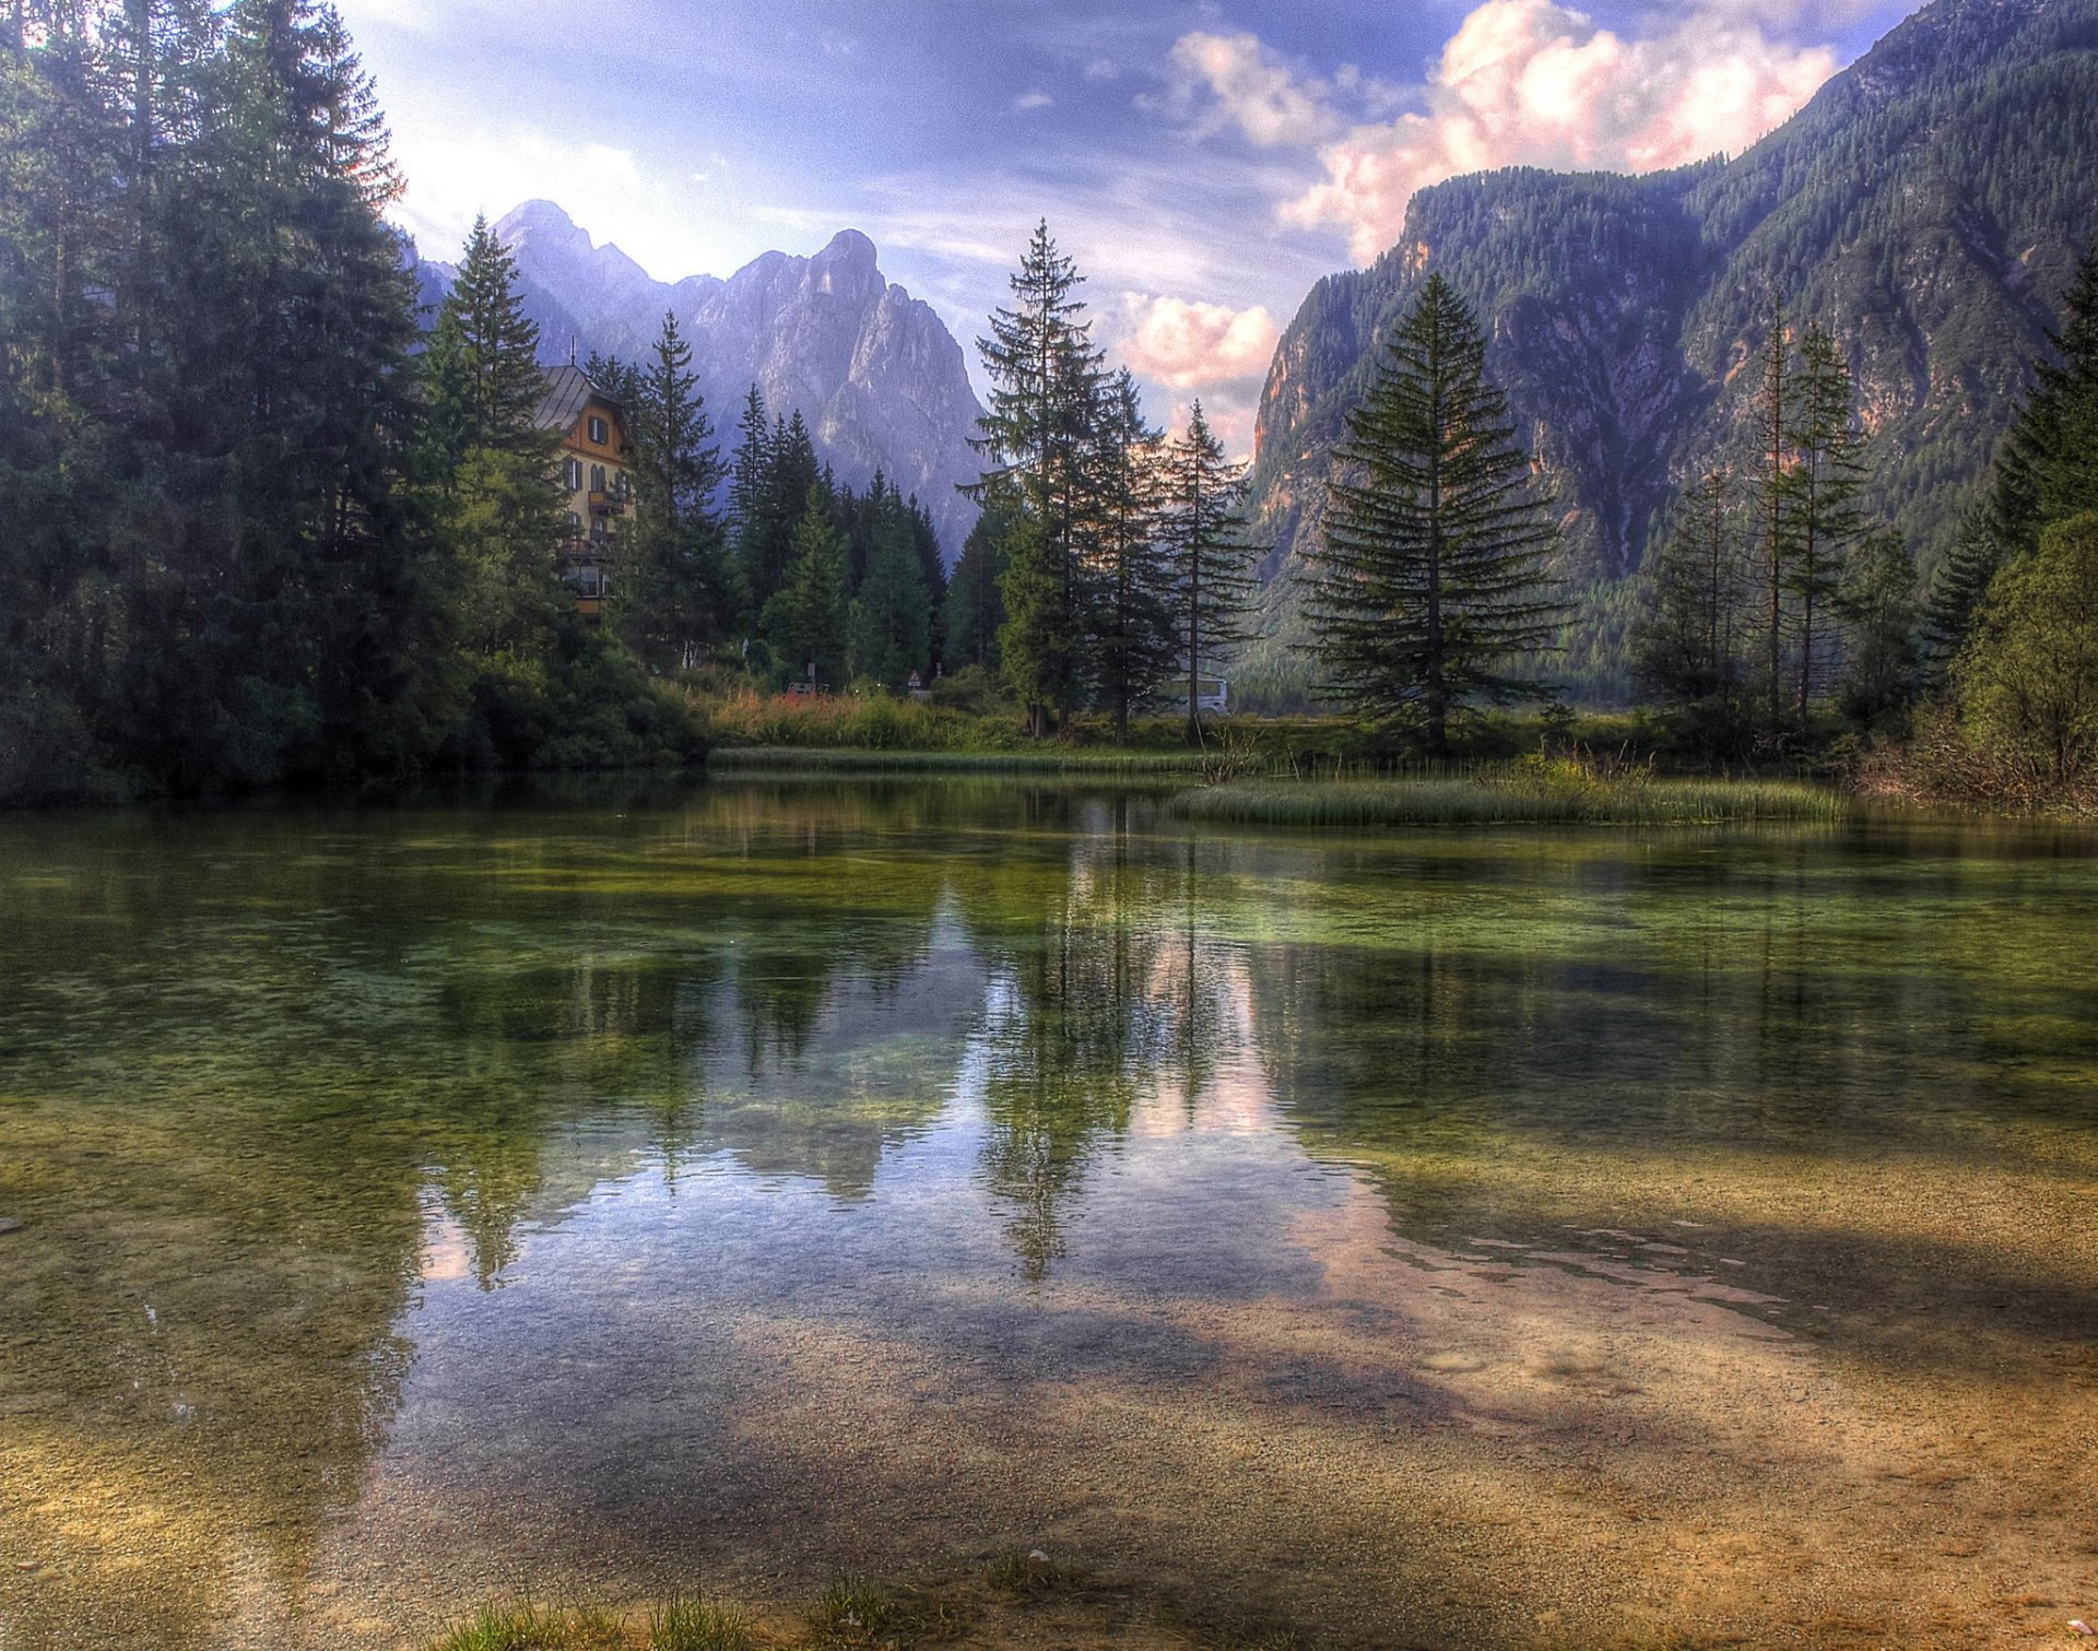
[[[1773,308],[1756,451],[1685,493],[1634,587],[1632,684],[1687,753],[1811,753],[1918,730],[1941,768],[1964,764],[1968,789],[2090,778],[2098,606],[2079,617],[2064,602],[2098,512],[2098,258],[2054,342],[1985,499],[1922,592],[1901,535],[1863,506],[1869,445],[1838,340]]]

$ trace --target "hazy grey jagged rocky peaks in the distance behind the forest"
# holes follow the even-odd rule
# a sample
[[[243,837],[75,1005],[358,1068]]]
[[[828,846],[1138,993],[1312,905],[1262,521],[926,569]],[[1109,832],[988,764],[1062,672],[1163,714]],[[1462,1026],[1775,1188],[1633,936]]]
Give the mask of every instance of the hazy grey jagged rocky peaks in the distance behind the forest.
[[[932,512],[948,562],[961,554],[976,506],[955,485],[982,470],[969,449],[982,407],[946,323],[883,279],[856,229],[812,258],[768,252],[726,281],[676,283],[596,245],[552,201],[527,201],[495,233],[516,256],[548,363],[592,350],[642,361],[673,313],[724,445],[755,384],[770,413],[801,413],[839,480],[864,487],[881,470]],[[443,264],[424,264],[426,300],[447,279]]]

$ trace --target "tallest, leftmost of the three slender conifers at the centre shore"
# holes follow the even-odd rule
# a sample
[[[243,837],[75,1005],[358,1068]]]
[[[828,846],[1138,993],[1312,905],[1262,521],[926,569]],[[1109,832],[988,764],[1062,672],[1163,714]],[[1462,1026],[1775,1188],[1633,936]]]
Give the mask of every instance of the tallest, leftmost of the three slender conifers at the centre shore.
[[[1078,285],[1078,269],[1057,252],[1049,224],[1036,224],[1011,275],[1013,306],[997,310],[990,338],[978,340],[992,388],[973,445],[990,470],[971,491],[982,499],[1011,483],[1034,524],[1007,541],[1001,657],[1036,736],[1070,713],[1085,686],[1091,589],[1078,537],[1104,367],[1080,321]]]

